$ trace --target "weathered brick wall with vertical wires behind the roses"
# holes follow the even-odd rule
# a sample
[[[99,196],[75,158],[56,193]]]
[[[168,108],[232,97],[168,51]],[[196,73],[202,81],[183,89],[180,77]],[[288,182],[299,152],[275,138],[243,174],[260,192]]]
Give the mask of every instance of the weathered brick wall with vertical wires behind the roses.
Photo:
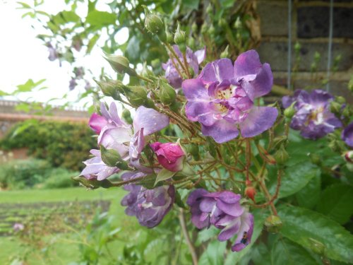
[[[323,88],[328,63],[330,1],[292,0],[292,69],[295,65],[294,45],[299,42],[300,62],[294,73],[294,88]],[[261,18],[261,61],[270,63],[275,83],[287,86],[288,1],[258,0]],[[316,75],[311,74],[315,52],[321,54]],[[353,102],[347,90],[353,75],[353,1],[334,0],[332,61],[341,57],[337,71],[331,72],[330,91]],[[331,64],[332,65],[332,64]]]

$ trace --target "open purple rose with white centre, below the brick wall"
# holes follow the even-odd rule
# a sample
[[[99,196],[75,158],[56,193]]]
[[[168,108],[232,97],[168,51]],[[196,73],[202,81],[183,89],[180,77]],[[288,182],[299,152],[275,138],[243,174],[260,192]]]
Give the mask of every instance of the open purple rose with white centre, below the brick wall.
[[[289,107],[296,101],[291,128],[301,131],[301,136],[306,139],[318,139],[342,126],[340,119],[329,110],[331,100],[333,96],[323,90],[313,90],[311,93],[296,90],[293,97],[282,98],[282,105]]]

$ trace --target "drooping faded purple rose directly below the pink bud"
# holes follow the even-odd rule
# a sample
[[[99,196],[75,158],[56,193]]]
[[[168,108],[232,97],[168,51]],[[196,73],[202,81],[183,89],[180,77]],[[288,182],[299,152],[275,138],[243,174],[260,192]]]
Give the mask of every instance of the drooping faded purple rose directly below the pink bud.
[[[125,173],[124,180],[143,176],[143,173]],[[154,228],[162,222],[164,216],[170,211],[175,200],[174,186],[164,185],[155,189],[145,189],[136,184],[128,184],[124,189],[130,193],[121,200],[122,206],[127,206],[125,213],[136,216],[140,225]]]

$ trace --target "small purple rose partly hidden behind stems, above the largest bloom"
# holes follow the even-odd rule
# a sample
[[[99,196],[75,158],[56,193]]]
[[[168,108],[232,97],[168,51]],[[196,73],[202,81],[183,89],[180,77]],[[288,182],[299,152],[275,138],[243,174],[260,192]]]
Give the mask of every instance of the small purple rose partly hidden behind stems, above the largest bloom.
[[[180,61],[184,62],[183,54],[180,52],[180,49],[177,45],[173,45],[174,52],[178,55]],[[195,76],[198,75],[198,66],[203,62],[203,60],[206,57],[206,49],[200,49],[196,52],[193,52],[189,47],[186,48],[186,62],[191,68],[193,69],[193,72],[195,73]],[[179,73],[177,69],[175,69],[175,66],[180,67],[177,60],[174,59],[169,59],[167,61],[167,64],[162,64],[162,68],[165,71],[165,78],[167,78],[169,84],[173,88],[181,88],[181,83],[183,82],[183,79],[181,76],[179,76]],[[180,69],[181,71],[181,69]]]

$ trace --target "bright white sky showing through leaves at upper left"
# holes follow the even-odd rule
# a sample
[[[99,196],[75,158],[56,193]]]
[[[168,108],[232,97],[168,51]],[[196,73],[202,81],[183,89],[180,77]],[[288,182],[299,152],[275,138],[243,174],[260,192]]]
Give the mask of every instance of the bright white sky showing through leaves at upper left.
[[[32,4],[31,0],[23,1]],[[21,18],[24,11],[16,9],[18,6],[14,0],[0,0],[0,90],[11,93],[16,89],[16,86],[25,83],[29,78],[32,78],[33,81],[45,78],[47,81],[43,85],[48,87],[46,90],[25,93],[25,95],[20,95],[20,100],[46,102],[51,98],[62,98],[64,94],[68,93],[68,100],[73,102],[72,105],[82,106],[89,99],[85,102],[74,102],[78,93],[85,91],[83,84],[73,91],[68,90],[68,82],[71,79],[68,64],[64,62],[60,67],[58,60],[49,61],[47,59],[49,55],[47,47],[44,46],[42,40],[35,37],[43,32],[30,26],[33,23],[31,18]],[[64,0],[47,0],[44,1],[41,10],[55,14],[63,10],[64,6]],[[100,11],[107,9],[104,4],[96,7]],[[78,11],[79,15],[83,17],[87,13],[85,6],[80,6]],[[119,39],[124,43],[127,37],[126,32],[122,32]],[[95,76],[99,75],[102,67],[106,73],[112,75],[113,71],[109,64],[102,58],[100,45],[102,42],[97,43],[97,47],[92,50],[90,56],[81,57],[79,63],[92,70]],[[93,80],[90,80],[90,83],[93,83]],[[61,105],[64,102],[66,100],[56,100],[52,103]]]

